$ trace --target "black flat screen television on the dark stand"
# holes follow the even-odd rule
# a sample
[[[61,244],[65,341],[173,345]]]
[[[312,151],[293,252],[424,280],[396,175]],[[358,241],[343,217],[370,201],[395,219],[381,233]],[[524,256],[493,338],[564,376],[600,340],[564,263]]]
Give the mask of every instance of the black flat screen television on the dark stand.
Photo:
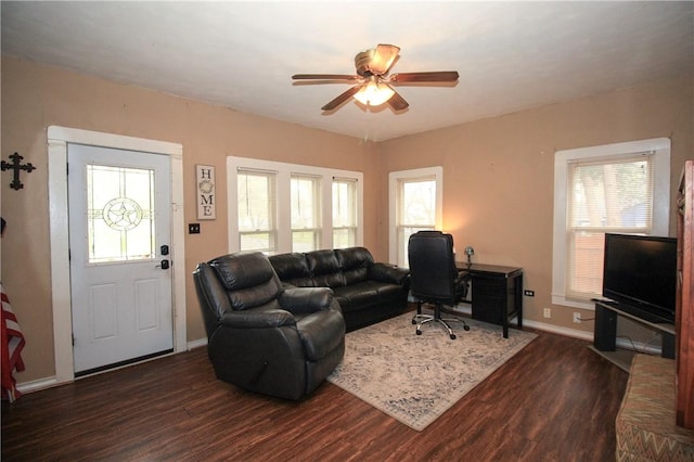
[[[605,234],[603,296],[650,322],[673,323],[677,239]]]

